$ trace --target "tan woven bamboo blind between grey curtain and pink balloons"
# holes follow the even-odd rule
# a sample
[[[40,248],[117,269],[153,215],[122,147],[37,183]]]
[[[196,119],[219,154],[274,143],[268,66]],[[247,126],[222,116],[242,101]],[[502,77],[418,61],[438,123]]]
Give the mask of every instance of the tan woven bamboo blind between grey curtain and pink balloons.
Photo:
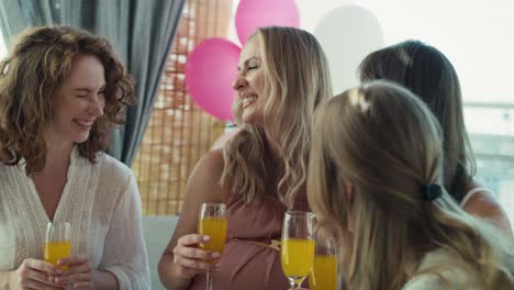
[[[146,215],[178,214],[192,168],[223,134],[188,96],[185,68],[189,52],[208,37],[225,37],[232,0],[189,0],[168,56],[160,89],[139,152],[132,165]]]

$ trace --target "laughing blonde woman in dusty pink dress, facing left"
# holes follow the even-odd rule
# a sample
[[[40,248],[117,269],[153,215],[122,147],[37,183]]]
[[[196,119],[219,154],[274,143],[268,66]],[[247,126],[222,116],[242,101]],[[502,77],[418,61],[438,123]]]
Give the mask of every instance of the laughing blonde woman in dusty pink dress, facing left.
[[[219,253],[198,248],[202,202],[224,202],[227,241],[214,289],[284,290],[277,242],[283,213],[308,210],[305,183],[314,109],[332,97],[328,65],[315,37],[293,27],[264,27],[242,51],[233,85],[239,132],[199,161],[180,220],[159,264],[172,289],[204,289]],[[235,68],[234,68],[235,69]],[[213,68],[214,71],[214,68]],[[208,237],[209,238],[209,237]]]

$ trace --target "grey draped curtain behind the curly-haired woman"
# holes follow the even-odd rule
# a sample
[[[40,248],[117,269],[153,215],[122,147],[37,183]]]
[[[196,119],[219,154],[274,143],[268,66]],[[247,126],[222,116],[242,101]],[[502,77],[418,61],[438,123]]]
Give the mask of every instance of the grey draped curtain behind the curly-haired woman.
[[[148,124],[167,54],[186,0],[1,0],[9,37],[33,25],[81,27],[111,41],[136,80],[137,105],[113,132],[109,154],[132,165]]]

